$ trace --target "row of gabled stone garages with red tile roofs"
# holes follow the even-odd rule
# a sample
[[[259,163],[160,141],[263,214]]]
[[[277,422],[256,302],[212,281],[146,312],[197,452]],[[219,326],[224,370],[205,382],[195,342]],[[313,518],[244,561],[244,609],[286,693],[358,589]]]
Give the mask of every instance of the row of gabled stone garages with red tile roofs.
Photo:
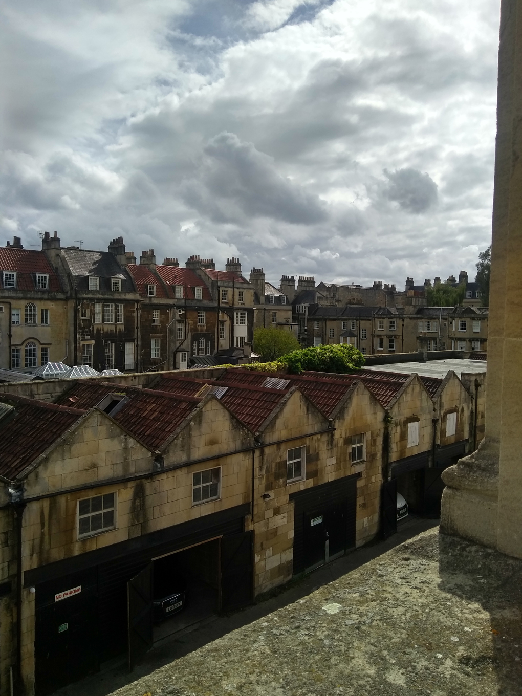
[[[438,514],[441,471],[483,436],[477,365],[0,385],[2,693],[134,667],[180,569],[185,612],[225,612],[386,533],[397,489]]]

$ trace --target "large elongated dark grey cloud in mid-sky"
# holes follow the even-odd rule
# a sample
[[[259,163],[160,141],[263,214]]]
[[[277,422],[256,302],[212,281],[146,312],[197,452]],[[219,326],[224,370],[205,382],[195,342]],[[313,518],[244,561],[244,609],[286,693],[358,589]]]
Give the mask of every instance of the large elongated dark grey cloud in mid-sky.
[[[253,143],[242,142],[235,134],[224,132],[207,143],[204,154],[200,180],[185,185],[185,200],[194,207],[205,207],[219,221],[227,216],[237,219],[233,209],[246,216],[295,224],[326,220],[322,200],[281,176],[274,160],[256,150]]]

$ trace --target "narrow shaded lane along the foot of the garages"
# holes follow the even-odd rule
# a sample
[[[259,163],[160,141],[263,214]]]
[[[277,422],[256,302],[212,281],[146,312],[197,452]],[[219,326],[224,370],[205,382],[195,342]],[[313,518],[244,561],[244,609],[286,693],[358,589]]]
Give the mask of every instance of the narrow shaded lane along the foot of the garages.
[[[277,596],[271,596],[269,599],[265,599],[242,611],[235,612],[230,616],[211,617],[192,631],[177,633],[170,639],[166,638],[158,647],[150,651],[145,663],[136,667],[132,674],[129,674],[127,671],[126,663],[115,661],[102,672],[94,674],[93,677],[88,677],[88,679],[59,690],[56,692],[56,696],[106,696],[111,694],[116,689],[139,679],[139,677],[150,674],[159,667],[169,665],[178,658],[230,633],[230,631],[247,626],[258,619],[266,617],[271,612],[299,601],[319,587],[345,576],[345,574],[379,557],[398,544],[415,537],[419,532],[437,525],[438,520],[419,519],[410,516],[409,519],[399,524],[397,534],[390,537],[390,539],[377,542],[372,546],[359,548],[357,551],[338,558],[308,574],[301,582],[292,584],[286,590],[277,594]],[[138,693],[139,696],[143,696],[143,694],[148,693],[148,689],[140,690],[138,688],[136,694]],[[156,693],[154,692],[152,696],[156,696]],[[260,692],[256,696],[283,696],[283,693],[274,692],[273,694],[266,692],[265,694]],[[284,696],[286,696],[286,693]]]

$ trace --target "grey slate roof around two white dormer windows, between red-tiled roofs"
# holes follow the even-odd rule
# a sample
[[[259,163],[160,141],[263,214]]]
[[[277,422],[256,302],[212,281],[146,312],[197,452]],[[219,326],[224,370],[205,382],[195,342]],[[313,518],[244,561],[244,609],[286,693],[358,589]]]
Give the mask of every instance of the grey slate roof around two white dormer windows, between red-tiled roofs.
[[[100,278],[100,290],[112,292],[111,278],[120,278],[121,292],[136,292],[128,271],[122,268],[109,251],[62,248],[61,253],[68,264],[72,285],[78,290],[88,291],[88,276]]]

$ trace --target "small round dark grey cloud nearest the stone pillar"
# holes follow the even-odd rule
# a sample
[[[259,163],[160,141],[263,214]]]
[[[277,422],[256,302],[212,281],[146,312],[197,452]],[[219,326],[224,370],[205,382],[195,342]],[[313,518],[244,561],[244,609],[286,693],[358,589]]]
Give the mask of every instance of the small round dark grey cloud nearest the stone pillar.
[[[395,172],[384,170],[390,184],[383,191],[388,200],[412,213],[426,212],[437,202],[437,184],[429,174],[406,167]]]

